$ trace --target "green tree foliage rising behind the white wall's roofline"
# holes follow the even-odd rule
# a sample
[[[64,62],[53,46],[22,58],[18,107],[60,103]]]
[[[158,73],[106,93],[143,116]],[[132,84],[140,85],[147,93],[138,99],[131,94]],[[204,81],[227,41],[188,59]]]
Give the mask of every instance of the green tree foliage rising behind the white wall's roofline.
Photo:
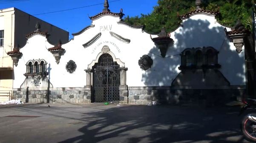
[[[247,29],[251,29],[253,4],[253,0],[204,0],[201,8],[219,10],[216,19],[222,25],[233,27],[240,19]],[[153,7],[151,14],[127,16],[124,22],[130,25],[145,25],[145,30],[149,33],[159,33],[162,27],[166,27],[167,31],[173,31],[181,22],[177,12],[183,15],[195,9],[195,0],[158,0],[158,5]]]

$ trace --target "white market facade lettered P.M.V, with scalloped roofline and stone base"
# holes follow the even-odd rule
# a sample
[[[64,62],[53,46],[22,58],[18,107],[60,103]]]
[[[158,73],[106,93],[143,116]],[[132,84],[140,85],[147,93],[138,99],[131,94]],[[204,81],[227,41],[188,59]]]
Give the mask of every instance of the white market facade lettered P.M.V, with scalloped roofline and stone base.
[[[216,12],[191,11],[180,16],[175,31],[157,36],[127,25],[122,9],[108,7],[105,0],[92,24],[66,44],[54,46],[42,33],[27,37],[23,60],[14,67],[14,96],[24,102],[148,104],[244,95],[244,52],[237,54]]]

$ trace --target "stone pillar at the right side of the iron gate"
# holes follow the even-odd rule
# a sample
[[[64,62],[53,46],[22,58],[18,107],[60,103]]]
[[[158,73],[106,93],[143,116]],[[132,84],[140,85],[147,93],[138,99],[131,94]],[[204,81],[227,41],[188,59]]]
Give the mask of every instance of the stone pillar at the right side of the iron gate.
[[[120,70],[120,86],[119,86],[119,95],[120,103],[128,104],[128,86],[126,85],[126,71],[128,68],[119,68]]]

